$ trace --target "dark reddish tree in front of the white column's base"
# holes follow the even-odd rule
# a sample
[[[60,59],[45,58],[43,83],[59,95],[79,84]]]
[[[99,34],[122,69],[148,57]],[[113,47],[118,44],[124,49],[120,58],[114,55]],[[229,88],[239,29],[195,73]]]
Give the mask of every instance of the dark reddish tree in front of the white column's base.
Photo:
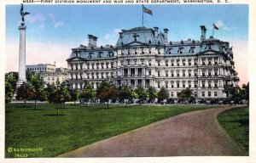
[[[29,82],[23,82],[20,87],[17,88],[16,99],[23,100],[26,106],[26,100],[34,97],[33,87]]]

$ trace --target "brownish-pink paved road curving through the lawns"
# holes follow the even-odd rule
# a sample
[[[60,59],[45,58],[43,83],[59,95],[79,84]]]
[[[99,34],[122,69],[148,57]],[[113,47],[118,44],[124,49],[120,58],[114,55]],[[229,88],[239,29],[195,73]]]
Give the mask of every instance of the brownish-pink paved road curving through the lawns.
[[[223,107],[158,121],[58,157],[246,155],[218,125]]]

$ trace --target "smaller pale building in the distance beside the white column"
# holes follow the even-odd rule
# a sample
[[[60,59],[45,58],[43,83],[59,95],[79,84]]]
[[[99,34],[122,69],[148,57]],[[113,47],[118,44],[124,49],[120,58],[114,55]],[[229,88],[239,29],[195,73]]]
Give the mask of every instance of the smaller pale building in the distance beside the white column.
[[[56,84],[64,82],[67,79],[67,69],[56,68],[56,65],[38,64],[26,65],[26,70],[38,74],[46,84]]]

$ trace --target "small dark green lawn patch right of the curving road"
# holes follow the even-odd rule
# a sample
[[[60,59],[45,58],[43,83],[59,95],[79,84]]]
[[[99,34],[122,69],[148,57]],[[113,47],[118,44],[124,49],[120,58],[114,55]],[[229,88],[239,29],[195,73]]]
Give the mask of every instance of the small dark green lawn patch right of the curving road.
[[[218,115],[218,122],[231,138],[248,152],[249,149],[249,108],[241,107],[224,111]]]

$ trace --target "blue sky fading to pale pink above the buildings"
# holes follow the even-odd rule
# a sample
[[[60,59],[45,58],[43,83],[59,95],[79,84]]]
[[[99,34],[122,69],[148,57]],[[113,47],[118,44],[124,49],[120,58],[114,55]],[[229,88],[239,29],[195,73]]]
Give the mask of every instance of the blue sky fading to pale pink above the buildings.
[[[144,14],[144,26],[169,29],[169,41],[200,40],[200,25],[212,36],[230,42],[240,84],[248,82],[248,6],[146,5],[153,16]],[[88,44],[88,34],[97,45],[114,45],[118,32],[142,26],[142,5],[24,5],[26,20],[26,65],[53,64],[67,67],[71,48]],[[18,70],[20,5],[6,5],[6,72]]]

